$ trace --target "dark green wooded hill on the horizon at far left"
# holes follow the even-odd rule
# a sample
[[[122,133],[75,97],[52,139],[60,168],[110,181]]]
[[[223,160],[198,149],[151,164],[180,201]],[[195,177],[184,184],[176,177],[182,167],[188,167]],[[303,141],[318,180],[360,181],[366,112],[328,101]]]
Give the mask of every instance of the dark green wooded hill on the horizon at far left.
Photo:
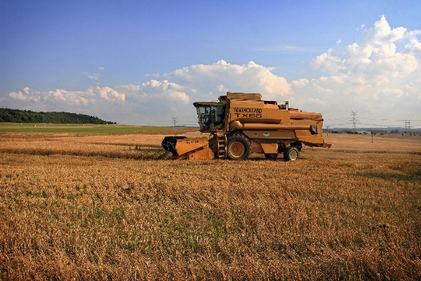
[[[98,117],[69,112],[34,112],[0,108],[0,122],[55,124],[116,124]]]

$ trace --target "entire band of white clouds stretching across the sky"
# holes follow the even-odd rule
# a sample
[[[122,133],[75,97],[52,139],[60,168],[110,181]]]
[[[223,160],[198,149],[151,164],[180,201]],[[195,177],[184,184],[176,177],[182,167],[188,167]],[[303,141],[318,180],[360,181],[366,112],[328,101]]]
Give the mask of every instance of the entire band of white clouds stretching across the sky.
[[[195,124],[194,101],[215,101],[233,91],[262,93],[265,100],[289,100],[291,107],[321,112],[326,121],[351,111],[376,113],[387,119],[406,119],[394,115],[416,112],[408,117],[421,119],[419,34],[420,30],[392,28],[382,16],[373,27],[361,32],[358,41],[316,56],[310,64],[325,73],[313,79],[288,82],[273,73],[274,67],[253,61],[236,65],[219,60],[146,75],[149,78],[140,84],[91,86],[86,91],[39,92],[25,87],[8,93],[7,102],[31,110],[65,108],[89,115],[100,113],[102,119],[121,124],[170,125],[177,113],[178,124]],[[340,43],[338,40],[335,47]],[[335,55],[338,53],[342,54]],[[98,72],[102,70],[98,67]],[[91,79],[100,77],[100,73],[85,74]]]

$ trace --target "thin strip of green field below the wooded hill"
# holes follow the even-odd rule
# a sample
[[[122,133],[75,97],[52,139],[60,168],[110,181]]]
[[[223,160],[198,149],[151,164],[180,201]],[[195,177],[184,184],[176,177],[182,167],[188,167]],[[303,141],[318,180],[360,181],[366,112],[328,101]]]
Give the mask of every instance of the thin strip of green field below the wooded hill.
[[[48,124],[0,122],[0,133],[132,133],[137,131],[166,131],[184,127],[131,126],[120,124]]]

